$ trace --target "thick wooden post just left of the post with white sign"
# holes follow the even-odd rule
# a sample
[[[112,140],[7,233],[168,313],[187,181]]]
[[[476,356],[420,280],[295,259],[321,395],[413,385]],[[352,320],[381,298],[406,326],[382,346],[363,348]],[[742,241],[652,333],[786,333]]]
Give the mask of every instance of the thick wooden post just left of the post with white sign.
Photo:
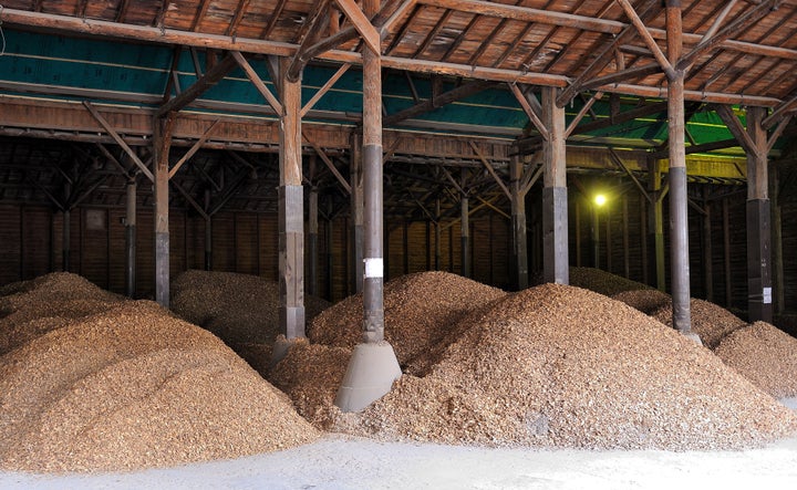
[[[304,336],[304,196],[301,152],[301,76],[286,74],[290,60],[280,60],[279,277],[280,327],[289,341]]]

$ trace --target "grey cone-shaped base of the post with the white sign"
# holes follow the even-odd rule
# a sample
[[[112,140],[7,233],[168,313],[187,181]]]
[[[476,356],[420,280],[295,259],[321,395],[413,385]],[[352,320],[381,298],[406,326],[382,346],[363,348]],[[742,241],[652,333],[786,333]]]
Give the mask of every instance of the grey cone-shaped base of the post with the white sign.
[[[342,411],[362,411],[390,393],[401,375],[398,359],[387,342],[358,344],[338,389],[335,405]]]

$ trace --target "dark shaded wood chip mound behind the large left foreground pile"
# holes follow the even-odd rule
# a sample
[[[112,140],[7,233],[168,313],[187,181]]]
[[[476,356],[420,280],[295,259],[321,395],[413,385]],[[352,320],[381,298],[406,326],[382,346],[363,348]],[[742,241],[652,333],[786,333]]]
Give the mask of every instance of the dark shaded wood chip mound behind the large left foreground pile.
[[[257,275],[192,270],[172,283],[172,311],[218,335],[252,366],[270,359],[280,335],[279,284]],[[309,322],[330,303],[304,296]]]

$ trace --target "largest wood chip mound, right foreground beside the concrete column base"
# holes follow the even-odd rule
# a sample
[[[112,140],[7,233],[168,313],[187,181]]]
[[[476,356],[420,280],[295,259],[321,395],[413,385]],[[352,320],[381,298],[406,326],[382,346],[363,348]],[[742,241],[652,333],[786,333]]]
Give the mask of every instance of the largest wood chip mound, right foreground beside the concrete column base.
[[[428,351],[426,376],[402,376],[362,414],[315,414],[363,436],[487,446],[728,449],[797,431],[788,408],[710,351],[590,291],[531,288],[468,325]],[[291,359],[283,371],[298,368]],[[337,374],[317,376],[337,389]]]

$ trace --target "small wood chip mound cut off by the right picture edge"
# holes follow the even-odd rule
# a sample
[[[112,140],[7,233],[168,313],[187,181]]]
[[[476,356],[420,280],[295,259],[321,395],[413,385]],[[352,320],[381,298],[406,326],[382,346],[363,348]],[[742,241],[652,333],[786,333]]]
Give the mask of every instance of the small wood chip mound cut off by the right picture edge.
[[[714,354],[769,395],[797,396],[797,338],[776,326],[755,322],[738,329]]]

